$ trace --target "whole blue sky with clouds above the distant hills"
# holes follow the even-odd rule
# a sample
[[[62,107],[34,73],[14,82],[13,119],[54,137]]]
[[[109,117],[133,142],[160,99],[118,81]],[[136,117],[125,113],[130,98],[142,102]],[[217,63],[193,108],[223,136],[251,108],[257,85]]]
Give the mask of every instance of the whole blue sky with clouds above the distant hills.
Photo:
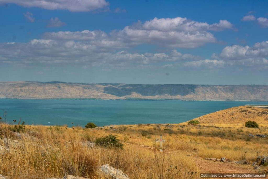
[[[0,0],[0,81],[267,85],[267,7]]]

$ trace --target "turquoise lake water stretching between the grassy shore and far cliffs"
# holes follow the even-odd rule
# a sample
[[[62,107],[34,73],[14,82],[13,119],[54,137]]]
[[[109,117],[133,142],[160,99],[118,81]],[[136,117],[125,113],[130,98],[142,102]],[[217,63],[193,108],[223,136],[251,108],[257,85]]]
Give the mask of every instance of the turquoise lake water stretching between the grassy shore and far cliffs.
[[[180,123],[254,101],[177,101],[177,100],[24,100],[0,99],[7,109],[7,121],[21,118],[26,124],[98,126],[138,123]],[[2,111],[0,111],[2,116]]]

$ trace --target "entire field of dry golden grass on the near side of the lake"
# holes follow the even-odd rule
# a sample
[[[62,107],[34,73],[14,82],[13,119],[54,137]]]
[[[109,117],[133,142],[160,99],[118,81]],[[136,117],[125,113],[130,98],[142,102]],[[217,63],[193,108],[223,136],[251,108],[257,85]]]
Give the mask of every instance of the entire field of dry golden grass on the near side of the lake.
[[[237,108],[237,113],[240,110],[240,107]],[[268,155],[267,138],[248,136],[267,135],[268,125],[265,124],[261,124],[259,129],[246,128],[242,123],[203,124],[202,120],[200,125],[118,125],[105,129],[26,126],[21,138],[6,131],[4,125],[0,125],[0,129],[0,145],[10,148],[9,152],[0,151],[0,174],[14,179],[63,177],[66,174],[105,178],[99,166],[106,163],[123,170],[130,178],[199,178],[201,172],[207,171],[207,166],[203,165],[207,160],[203,158],[226,157],[232,161],[245,159],[253,163],[257,156]],[[80,144],[80,141],[95,141],[108,134],[118,136],[124,149],[91,148]],[[160,134],[166,140],[163,152],[159,151],[159,143],[155,142]],[[18,143],[6,143],[5,137],[18,140]],[[206,164],[211,167],[213,162]],[[221,164],[218,162],[217,167],[223,168],[213,171],[228,173],[227,166]],[[228,165],[235,168],[240,164]],[[262,167],[263,170],[266,167]],[[251,165],[232,171],[254,172]]]

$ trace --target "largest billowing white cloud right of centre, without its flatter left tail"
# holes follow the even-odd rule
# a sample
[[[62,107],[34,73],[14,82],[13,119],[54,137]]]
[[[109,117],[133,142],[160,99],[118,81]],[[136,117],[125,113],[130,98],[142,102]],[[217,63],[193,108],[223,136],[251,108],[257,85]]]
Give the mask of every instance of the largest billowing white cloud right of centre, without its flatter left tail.
[[[149,43],[172,48],[195,48],[217,41],[209,31],[231,28],[232,24],[227,20],[208,24],[181,17],[154,18],[144,23],[139,21],[135,25],[126,26],[123,30],[113,33],[113,36],[134,44]]]

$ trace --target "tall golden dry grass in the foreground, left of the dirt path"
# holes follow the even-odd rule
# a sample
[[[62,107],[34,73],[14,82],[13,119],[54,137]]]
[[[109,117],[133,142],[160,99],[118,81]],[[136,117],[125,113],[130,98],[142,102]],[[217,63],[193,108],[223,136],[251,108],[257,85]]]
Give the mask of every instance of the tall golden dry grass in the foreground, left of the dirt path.
[[[10,144],[9,152],[0,155],[0,173],[14,179],[63,177],[67,174],[105,178],[99,166],[108,163],[123,170],[130,178],[198,178],[200,171],[195,162],[188,161],[184,155],[169,153],[167,147],[163,148],[164,152],[159,152],[158,148],[152,150],[134,143],[124,143],[123,150],[90,148],[80,144],[80,141],[94,141],[110,133],[118,135],[122,141],[124,135],[138,137],[139,131],[129,129],[26,126],[21,138],[8,131],[8,138],[18,140],[18,143]],[[0,145],[5,146],[1,141]]]

